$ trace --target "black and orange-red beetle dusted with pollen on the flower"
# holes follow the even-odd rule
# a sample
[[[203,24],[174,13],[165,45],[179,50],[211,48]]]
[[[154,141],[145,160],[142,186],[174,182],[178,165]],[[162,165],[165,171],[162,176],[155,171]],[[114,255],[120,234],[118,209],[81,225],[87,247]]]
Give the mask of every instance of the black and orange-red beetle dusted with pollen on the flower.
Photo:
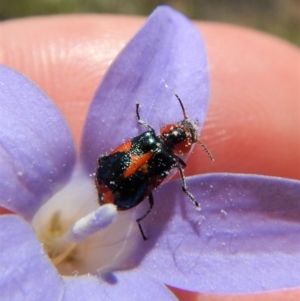
[[[200,209],[199,203],[187,190],[183,173],[186,164],[178,157],[187,154],[194,143],[200,142],[197,137],[198,128],[196,123],[187,117],[180,98],[176,94],[175,96],[182,108],[182,121],[163,126],[160,135],[157,136],[154,129],[140,119],[139,104],[136,104],[138,123],[145,126],[147,131],[98,159],[95,183],[100,205],[112,203],[118,210],[128,210],[148,197],[149,209],[136,220],[144,240],[147,238],[141,221],[153,207],[152,191],[164,181],[172,169],[178,169],[183,192]],[[200,144],[213,160],[207,148],[201,142]]]

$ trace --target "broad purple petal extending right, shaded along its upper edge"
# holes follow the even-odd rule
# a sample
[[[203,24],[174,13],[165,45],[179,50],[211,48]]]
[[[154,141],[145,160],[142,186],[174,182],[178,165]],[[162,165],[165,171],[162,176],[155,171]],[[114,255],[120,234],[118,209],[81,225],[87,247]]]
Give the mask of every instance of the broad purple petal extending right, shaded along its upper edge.
[[[143,221],[156,246],[141,263],[149,274],[201,292],[300,286],[299,181],[216,174],[190,178],[188,186],[200,212],[180,181],[172,181],[161,187]]]

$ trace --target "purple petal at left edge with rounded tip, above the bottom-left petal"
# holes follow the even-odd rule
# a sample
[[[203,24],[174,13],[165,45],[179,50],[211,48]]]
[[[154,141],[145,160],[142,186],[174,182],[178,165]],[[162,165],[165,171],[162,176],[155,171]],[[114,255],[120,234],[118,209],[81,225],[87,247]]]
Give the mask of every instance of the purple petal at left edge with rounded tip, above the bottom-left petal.
[[[70,176],[75,148],[48,97],[0,66],[0,206],[30,219]]]

